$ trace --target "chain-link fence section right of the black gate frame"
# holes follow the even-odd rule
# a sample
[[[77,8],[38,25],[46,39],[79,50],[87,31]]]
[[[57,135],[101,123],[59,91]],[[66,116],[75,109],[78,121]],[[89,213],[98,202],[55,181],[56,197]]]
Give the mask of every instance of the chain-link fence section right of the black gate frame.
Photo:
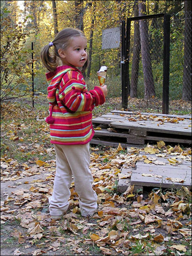
[[[169,97],[192,100],[192,12],[171,15]]]

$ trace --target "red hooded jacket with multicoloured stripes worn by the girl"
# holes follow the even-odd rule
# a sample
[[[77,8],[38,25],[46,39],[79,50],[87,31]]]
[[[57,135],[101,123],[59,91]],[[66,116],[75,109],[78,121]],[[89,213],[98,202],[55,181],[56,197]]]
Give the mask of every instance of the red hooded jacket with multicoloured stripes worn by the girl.
[[[88,91],[82,73],[70,66],[46,73],[51,143],[77,145],[88,143],[93,135],[92,110],[105,102],[100,86]]]

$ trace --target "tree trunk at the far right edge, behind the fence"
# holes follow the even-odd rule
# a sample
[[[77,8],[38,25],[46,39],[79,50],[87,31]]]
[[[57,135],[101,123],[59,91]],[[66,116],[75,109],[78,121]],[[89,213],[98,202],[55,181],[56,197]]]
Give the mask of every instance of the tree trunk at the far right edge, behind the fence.
[[[184,1],[185,32],[184,32],[184,67],[182,99],[192,100],[192,1]]]

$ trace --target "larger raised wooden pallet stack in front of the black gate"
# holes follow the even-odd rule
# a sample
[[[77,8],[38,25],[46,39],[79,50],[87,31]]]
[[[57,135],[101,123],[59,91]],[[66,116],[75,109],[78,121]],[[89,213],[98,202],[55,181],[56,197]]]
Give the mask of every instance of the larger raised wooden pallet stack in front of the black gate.
[[[112,111],[93,119],[95,136],[94,144],[116,146],[144,145],[147,142],[163,140],[169,143],[191,144],[191,118],[189,116],[174,116],[160,114],[138,113],[128,111]],[[179,118],[178,122],[167,122]],[[134,120],[130,121],[130,120]],[[158,120],[158,121],[156,121]]]

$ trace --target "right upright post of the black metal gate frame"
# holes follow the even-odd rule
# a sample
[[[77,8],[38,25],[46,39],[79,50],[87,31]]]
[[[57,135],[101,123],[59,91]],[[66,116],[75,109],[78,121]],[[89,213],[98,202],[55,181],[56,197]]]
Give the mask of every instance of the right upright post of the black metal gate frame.
[[[170,14],[164,15],[163,102],[162,102],[163,114],[168,114],[168,105],[169,105],[170,16],[171,16]]]

